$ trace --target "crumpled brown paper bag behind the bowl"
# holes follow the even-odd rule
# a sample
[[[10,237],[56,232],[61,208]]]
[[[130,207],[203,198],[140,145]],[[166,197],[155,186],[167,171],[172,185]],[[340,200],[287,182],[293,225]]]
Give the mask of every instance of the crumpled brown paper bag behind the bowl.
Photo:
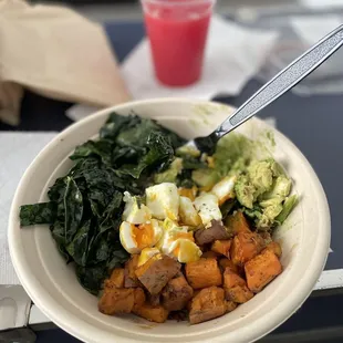
[[[100,24],[62,7],[1,0],[0,119],[3,122],[19,124],[23,87],[55,100],[96,106],[129,100]]]

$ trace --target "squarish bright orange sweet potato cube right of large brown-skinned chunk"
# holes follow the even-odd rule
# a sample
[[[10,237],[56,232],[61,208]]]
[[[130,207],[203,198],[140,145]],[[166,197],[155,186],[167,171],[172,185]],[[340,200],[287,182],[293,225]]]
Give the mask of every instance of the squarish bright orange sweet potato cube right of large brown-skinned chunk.
[[[186,278],[191,288],[220,285],[222,277],[216,259],[199,259],[186,264]]]

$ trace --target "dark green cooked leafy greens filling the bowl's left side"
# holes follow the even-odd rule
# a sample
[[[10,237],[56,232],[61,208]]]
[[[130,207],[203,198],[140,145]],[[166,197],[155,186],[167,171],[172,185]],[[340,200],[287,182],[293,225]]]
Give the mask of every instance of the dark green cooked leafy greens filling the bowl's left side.
[[[143,195],[184,143],[152,119],[112,113],[100,138],[70,156],[75,164],[50,188],[49,202],[20,208],[21,226],[50,225],[60,252],[76,264],[80,283],[97,294],[108,271],[128,259],[118,238],[124,190]]]

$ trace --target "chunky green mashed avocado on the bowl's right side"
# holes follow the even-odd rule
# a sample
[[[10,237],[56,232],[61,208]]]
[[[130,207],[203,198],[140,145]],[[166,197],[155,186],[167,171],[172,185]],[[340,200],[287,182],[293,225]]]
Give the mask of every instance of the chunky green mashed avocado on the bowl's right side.
[[[257,159],[261,158],[261,148],[268,150],[261,147],[261,142],[230,133],[219,141],[211,165],[191,170],[191,180],[200,190],[209,191],[225,177],[236,176],[233,197],[238,206],[258,229],[264,230],[284,221],[297,204],[297,196],[290,196],[292,181],[270,154]],[[178,155],[195,157],[194,152],[183,147]]]

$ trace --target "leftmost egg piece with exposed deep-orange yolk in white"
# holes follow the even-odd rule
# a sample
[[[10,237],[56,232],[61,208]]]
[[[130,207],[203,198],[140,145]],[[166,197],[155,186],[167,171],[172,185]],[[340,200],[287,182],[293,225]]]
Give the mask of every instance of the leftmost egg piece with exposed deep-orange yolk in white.
[[[144,248],[154,247],[162,235],[163,230],[156,219],[139,226],[123,221],[119,227],[121,243],[129,253],[139,253]]]

